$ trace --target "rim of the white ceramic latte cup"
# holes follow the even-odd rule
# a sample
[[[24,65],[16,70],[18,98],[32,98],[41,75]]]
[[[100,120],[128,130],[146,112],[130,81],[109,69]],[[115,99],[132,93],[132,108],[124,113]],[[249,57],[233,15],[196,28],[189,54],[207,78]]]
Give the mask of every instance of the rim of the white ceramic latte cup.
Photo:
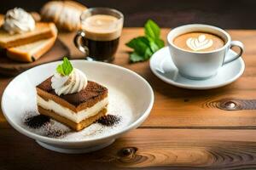
[[[217,35],[218,37],[221,37],[224,40],[225,44],[222,48],[218,48],[212,51],[198,52],[198,51],[189,51],[183,48],[179,48],[177,47],[177,45],[173,43],[173,40],[175,37],[185,33],[193,32],[193,31],[202,31],[202,32],[212,33],[213,35]],[[230,45],[231,37],[228,32],[224,31],[223,29],[217,26],[210,26],[210,25],[204,25],[204,24],[189,24],[184,26],[178,26],[172,29],[167,35],[167,42],[173,48],[177,48],[179,50],[182,50],[183,52],[192,53],[192,54],[211,54],[211,53],[216,53],[218,51],[221,51],[224,48],[227,48]]]

